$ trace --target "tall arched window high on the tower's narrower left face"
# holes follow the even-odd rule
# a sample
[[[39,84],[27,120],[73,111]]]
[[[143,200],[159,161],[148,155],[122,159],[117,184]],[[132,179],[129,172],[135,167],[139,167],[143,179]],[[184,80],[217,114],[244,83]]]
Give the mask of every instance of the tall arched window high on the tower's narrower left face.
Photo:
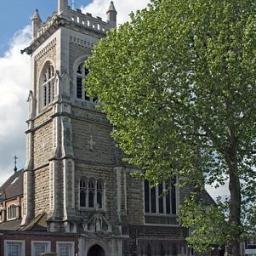
[[[54,67],[50,62],[45,64],[40,81],[42,91],[42,106],[45,107],[54,99],[55,73]]]

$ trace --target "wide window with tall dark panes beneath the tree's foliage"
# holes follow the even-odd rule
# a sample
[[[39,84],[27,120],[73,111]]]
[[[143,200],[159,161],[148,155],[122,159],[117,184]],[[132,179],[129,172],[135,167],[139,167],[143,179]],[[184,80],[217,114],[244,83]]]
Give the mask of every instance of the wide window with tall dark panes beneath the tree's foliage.
[[[160,183],[156,187],[144,181],[145,213],[176,214],[176,180]]]

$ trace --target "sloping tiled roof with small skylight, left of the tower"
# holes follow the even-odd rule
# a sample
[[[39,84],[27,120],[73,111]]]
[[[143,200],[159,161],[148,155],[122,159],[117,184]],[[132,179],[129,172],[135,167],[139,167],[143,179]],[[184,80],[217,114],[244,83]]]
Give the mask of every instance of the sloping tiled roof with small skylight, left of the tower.
[[[1,187],[0,201],[23,195],[23,170],[15,172]]]

